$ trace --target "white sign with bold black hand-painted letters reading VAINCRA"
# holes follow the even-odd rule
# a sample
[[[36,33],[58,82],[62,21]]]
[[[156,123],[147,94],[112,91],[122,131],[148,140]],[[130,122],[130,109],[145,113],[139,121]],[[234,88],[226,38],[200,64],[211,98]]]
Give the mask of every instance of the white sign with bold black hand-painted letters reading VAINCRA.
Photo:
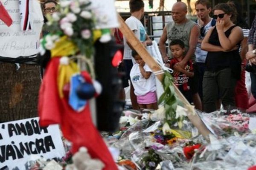
[[[0,124],[0,170],[25,170],[27,162],[65,156],[58,125],[40,127],[39,118]]]

